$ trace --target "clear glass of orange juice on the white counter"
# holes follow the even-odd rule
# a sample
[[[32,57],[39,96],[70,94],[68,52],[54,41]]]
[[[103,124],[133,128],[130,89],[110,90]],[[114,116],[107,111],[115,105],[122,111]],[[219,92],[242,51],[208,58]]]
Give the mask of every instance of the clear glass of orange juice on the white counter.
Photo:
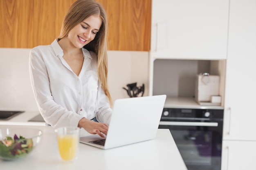
[[[74,159],[76,157],[77,146],[77,135],[58,135],[58,149],[63,160]]]

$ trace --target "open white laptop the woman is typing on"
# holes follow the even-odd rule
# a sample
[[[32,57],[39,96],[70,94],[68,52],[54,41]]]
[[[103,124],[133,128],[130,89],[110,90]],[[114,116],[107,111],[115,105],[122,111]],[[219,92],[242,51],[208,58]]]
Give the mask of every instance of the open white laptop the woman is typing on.
[[[80,142],[110,149],[154,139],[165,100],[166,95],[117,99],[106,138],[89,135],[80,137]]]

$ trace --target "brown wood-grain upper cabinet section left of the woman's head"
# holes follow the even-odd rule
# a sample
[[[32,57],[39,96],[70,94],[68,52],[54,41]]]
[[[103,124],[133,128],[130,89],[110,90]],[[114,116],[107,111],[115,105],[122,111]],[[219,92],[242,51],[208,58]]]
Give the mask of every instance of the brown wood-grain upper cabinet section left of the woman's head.
[[[75,0],[0,0],[0,48],[51,44]]]

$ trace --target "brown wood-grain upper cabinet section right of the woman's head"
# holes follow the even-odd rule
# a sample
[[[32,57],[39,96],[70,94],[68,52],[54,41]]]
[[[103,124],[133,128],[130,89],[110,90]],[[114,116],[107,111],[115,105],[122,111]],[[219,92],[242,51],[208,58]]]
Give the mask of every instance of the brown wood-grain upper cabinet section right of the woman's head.
[[[151,0],[97,1],[108,15],[108,50],[150,50]]]

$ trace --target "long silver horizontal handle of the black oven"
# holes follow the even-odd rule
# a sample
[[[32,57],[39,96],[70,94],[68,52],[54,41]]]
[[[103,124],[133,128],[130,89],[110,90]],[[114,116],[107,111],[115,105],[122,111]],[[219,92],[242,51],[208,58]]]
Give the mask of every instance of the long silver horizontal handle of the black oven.
[[[172,121],[160,121],[159,125],[171,125],[171,126],[218,126],[218,122],[172,122]]]

